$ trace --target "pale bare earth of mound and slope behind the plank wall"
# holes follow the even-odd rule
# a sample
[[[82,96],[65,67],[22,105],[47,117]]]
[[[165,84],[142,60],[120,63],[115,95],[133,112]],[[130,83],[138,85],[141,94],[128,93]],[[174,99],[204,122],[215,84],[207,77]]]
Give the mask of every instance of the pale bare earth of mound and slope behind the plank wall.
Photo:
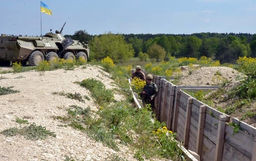
[[[244,79],[244,74],[238,72],[235,69],[225,67],[225,66],[215,66],[215,67],[199,67],[195,66],[195,69],[192,72],[189,72],[191,69],[188,66],[182,66],[182,75],[181,81],[178,85],[184,86],[211,86],[211,85],[221,85],[223,81],[228,82],[225,90],[230,91],[233,87],[238,85],[241,80]],[[219,76],[218,76],[219,75]],[[232,98],[227,101],[225,98],[227,94],[222,95],[218,99],[213,99],[213,102],[216,104],[215,107],[221,107],[225,109],[227,107],[234,107],[237,103],[238,98]],[[256,112],[256,103],[252,103],[250,107],[236,109],[235,112],[230,114],[232,118],[241,119],[246,112]],[[256,127],[256,118],[245,118],[243,122],[248,123]]]

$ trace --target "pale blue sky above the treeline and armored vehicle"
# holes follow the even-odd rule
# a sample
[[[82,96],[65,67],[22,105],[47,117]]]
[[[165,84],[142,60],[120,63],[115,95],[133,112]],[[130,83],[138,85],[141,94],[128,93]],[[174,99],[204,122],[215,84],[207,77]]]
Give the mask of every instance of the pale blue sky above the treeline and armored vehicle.
[[[256,33],[256,0],[0,0],[0,33]],[[41,23],[42,22],[42,23]]]

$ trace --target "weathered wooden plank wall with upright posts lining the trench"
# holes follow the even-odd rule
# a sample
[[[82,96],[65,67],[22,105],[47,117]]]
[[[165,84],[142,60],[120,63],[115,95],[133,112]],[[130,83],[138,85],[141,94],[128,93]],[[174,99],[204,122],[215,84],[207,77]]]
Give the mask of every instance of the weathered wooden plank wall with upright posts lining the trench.
[[[186,149],[196,152],[201,161],[256,161],[256,128],[232,118],[232,123],[241,128],[234,134],[234,128],[227,124],[230,116],[163,78],[154,77],[159,88],[155,114],[169,130],[176,132],[177,140]]]

